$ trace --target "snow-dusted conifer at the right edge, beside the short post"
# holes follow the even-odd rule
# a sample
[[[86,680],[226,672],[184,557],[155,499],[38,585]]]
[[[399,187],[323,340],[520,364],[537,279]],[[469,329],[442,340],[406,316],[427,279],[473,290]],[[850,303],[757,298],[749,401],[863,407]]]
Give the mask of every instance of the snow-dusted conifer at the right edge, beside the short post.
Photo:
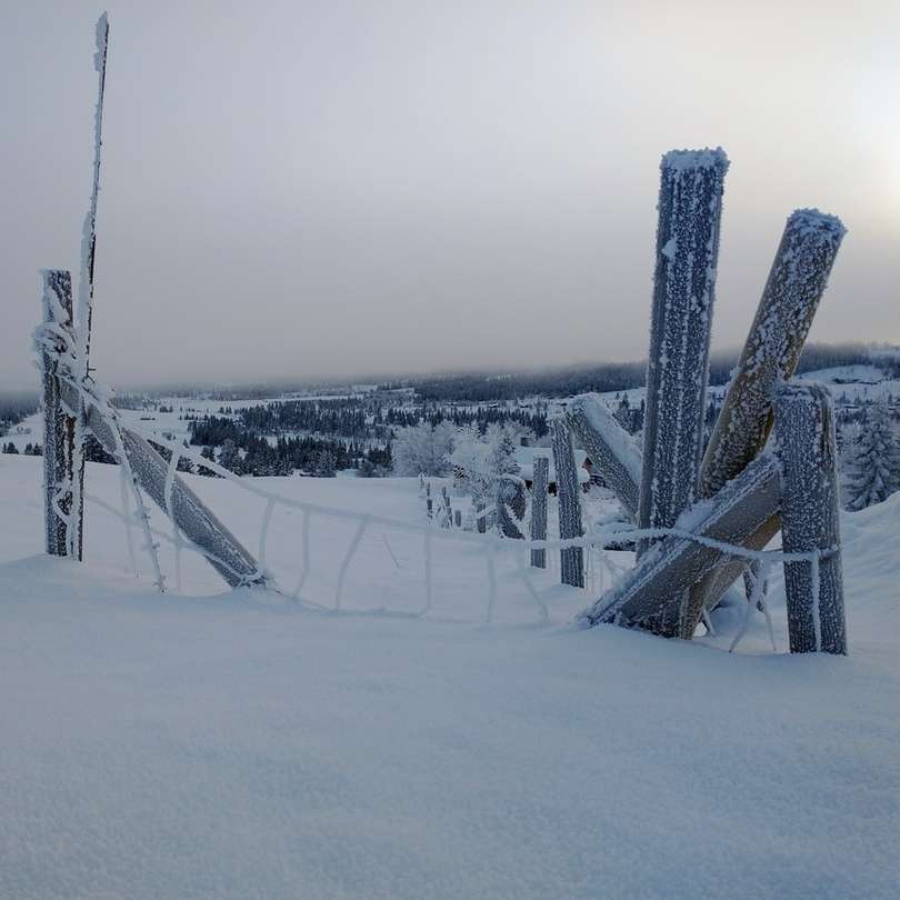
[[[900,449],[884,403],[872,403],[848,453],[847,508],[866,509],[900,488]]]

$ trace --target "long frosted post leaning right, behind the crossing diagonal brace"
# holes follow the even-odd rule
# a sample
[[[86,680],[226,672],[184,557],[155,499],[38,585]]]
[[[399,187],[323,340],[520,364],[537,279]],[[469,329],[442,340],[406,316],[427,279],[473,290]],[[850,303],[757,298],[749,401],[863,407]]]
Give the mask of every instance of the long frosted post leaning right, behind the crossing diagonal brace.
[[[700,468],[700,497],[712,497],[766,446],[772,428],[772,391],[797,369],[846,229],[816,209],[788,217],[769,278]],[[762,549],[779,529],[776,514],[750,547]],[[741,561],[721,567],[691,590],[682,637],[690,637],[703,607],[718,602],[740,574]]]

